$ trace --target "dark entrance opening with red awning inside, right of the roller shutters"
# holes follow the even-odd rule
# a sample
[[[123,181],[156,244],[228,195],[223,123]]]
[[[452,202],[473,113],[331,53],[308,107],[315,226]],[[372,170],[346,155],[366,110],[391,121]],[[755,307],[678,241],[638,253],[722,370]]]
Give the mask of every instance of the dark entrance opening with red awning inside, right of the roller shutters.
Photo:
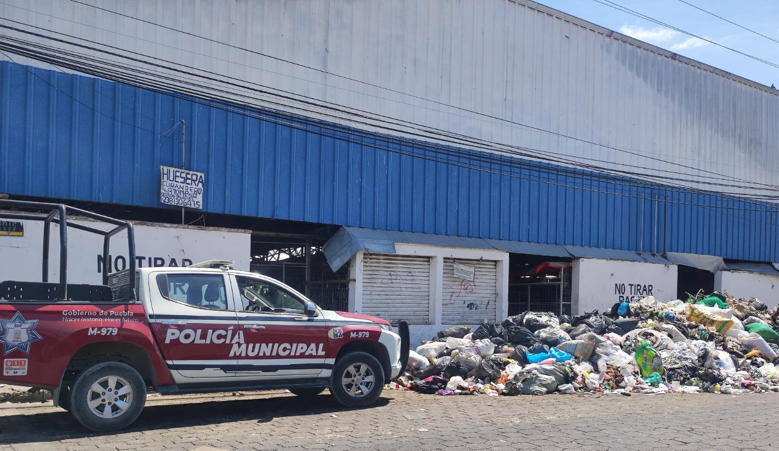
[[[571,259],[509,254],[509,316],[571,313]]]

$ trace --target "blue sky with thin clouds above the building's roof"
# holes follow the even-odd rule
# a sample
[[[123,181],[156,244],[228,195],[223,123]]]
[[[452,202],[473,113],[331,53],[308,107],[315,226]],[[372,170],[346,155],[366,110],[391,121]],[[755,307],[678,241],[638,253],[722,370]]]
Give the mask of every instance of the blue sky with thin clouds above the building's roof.
[[[633,9],[644,16],[704,37],[716,44],[690,37],[628,12],[618,11],[595,0],[536,1],[687,58],[713,65],[766,86],[776,84],[779,88],[779,69],[716,45],[721,44],[779,66],[779,42],[770,40],[779,41],[779,2],[776,0],[743,0],[742,2],[684,0],[764,34],[770,39],[710,16],[693,6],[686,5],[682,0],[611,0],[617,5]],[[608,3],[606,0],[599,1]]]

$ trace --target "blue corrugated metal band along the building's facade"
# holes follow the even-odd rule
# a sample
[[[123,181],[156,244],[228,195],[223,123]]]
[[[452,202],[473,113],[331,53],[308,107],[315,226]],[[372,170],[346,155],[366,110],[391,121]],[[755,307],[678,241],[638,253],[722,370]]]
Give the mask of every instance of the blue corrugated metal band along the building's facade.
[[[206,173],[210,212],[779,260],[773,206],[473,150],[442,153],[12,62],[0,62],[0,76],[0,192],[162,206],[159,166],[181,165],[181,135],[160,133],[184,119],[187,167]]]

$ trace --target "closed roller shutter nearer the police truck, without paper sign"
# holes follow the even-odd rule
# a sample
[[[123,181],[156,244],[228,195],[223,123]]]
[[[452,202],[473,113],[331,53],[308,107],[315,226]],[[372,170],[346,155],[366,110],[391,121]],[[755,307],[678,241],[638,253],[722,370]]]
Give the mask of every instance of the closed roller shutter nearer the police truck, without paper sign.
[[[362,313],[393,324],[430,323],[430,258],[365,253]]]

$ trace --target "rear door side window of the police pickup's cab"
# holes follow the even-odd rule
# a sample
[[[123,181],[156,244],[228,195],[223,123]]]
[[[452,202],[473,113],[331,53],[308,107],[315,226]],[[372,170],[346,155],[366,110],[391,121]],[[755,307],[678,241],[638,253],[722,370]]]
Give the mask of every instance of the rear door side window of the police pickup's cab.
[[[165,298],[196,307],[227,308],[224,277],[219,274],[160,274],[157,284]]]

